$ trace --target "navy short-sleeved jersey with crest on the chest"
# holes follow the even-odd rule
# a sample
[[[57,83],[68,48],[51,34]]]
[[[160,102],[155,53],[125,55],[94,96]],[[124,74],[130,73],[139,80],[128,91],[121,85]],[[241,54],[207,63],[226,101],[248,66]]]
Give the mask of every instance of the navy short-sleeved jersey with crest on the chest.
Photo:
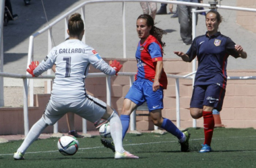
[[[195,38],[187,52],[190,61],[195,56],[198,60],[194,85],[217,84],[226,89],[228,56],[239,57],[238,52],[234,49],[235,45],[230,38],[220,32],[211,37],[206,33]]]

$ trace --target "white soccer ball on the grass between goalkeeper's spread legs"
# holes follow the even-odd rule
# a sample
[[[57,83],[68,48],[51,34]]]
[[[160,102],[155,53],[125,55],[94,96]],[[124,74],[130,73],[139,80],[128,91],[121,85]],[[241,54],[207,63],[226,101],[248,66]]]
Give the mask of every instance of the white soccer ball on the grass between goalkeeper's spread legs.
[[[61,136],[58,141],[58,149],[62,155],[74,155],[78,150],[79,142],[75,136]]]

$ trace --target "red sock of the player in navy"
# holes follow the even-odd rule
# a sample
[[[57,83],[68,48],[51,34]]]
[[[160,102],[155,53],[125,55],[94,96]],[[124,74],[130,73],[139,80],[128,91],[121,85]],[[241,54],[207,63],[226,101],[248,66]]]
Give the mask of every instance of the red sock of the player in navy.
[[[203,111],[203,130],[204,130],[204,143],[211,145],[212,134],[214,134],[214,116],[212,112]]]

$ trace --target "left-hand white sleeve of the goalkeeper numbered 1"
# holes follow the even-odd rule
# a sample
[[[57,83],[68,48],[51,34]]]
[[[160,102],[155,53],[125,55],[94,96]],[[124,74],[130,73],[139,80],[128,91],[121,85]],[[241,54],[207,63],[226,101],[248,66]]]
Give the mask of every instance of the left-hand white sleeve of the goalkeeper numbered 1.
[[[57,56],[57,49],[53,48],[51,50],[51,52],[49,52],[49,54],[44,58],[44,60],[42,60],[42,62],[40,62],[38,67],[36,67],[36,69],[34,69],[34,71],[33,71],[34,75],[39,76],[42,73],[44,73],[45,71],[47,71],[48,69],[51,69],[53,67],[53,65],[55,64],[56,56]]]

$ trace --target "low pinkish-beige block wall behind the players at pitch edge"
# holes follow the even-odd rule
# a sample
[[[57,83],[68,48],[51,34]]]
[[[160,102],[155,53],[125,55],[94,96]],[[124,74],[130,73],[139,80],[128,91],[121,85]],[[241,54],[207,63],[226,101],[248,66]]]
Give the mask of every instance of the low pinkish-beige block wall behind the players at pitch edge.
[[[106,61],[108,61],[107,59]],[[122,72],[137,71],[135,59],[122,59]],[[186,75],[191,73],[192,64],[178,59],[164,60],[164,70],[166,73],[175,75]],[[90,72],[99,72],[90,67]],[[228,76],[256,76],[256,71],[228,71]],[[129,77],[111,77],[112,99],[111,106],[121,113],[123,98],[129,90]],[[181,108],[181,128],[192,127],[193,120],[189,114],[189,102],[192,94],[192,81],[180,80],[180,108]],[[106,101],[106,78],[87,78],[86,89],[94,97]],[[35,95],[35,106],[29,108],[30,128],[43,114],[46,103],[49,101],[49,94]],[[228,81],[226,97],[224,99],[223,110],[220,113],[222,124],[226,128],[256,128],[256,81]],[[137,111],[137,114],[148,114],[146,111]],[[164,90],[164,110],[162,115],[169,118],[176,124],[176,97],[175,81],[168,79],[168,89]],[[0,108],[0,134],[24,134],[23,108]],[[137,130],[154,130],[148,116],[137,116]],[[197,126],[203,127],[203,120],[197,120]],[[82,130],[82,119],[75,116],[75,129]],[[95,130],[94,125],[88,122],[88,130]],[[49,126],[45,133],[53,132],[53,126]],[[65,116],[59,120],[59,132],[68,132]]]

